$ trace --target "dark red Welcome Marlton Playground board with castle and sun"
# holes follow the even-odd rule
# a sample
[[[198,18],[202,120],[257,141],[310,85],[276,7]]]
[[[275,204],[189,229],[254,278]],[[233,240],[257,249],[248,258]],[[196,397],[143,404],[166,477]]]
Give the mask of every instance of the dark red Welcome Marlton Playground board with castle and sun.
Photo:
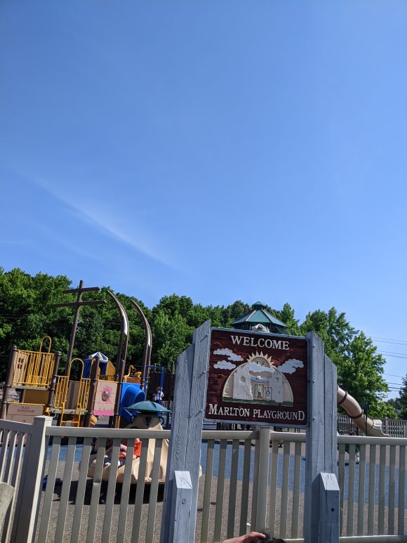
[[[237,329],[211,329],[207,421],[304,427],[307,340]]]

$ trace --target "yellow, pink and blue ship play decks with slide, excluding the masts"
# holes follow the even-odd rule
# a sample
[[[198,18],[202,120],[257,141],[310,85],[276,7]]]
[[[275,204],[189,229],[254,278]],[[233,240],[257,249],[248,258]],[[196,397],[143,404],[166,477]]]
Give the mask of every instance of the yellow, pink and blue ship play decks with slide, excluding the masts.
[[[43,351],[44,340],[48,351]],[[74,358],[65,375],[58,374],[60,353],[51,353],[51,338],[41,340],[39,351],[21,351],[14,347],[8,365],[0,418],[32,422],[39,414],[58,415],[60,426],[94,426],[97,417],[112,417],[118,383],[112,362],[102,353],[93,353],[86,360]],[[137,377],[126,377],[117,403],[119,417],[126,424],[132,414],[126,407],[145,399]],[[140,381],[140,379],[138,379]],[[20,402],[8,403],[8,391],[21,391]]]

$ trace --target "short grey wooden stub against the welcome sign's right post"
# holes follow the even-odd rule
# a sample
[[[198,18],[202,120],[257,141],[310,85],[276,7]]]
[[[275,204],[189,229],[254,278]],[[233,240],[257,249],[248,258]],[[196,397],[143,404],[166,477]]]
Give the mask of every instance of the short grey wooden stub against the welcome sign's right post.
[[[319,541],[339,541],[339,485],[334,473],[319,473]]]

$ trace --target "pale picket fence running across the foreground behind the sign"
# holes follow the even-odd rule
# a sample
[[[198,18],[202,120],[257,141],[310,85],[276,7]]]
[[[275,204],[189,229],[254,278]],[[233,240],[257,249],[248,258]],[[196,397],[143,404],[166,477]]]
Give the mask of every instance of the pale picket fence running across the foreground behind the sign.
[[[46,417],[34,425],[1,420],[0,428],[1,481],[17,489],[2,542],[159,542],[159,457],[169,431],[98,429],[97,466],[89,479],[95,429],[57,428]],[[131,485],[129,462],[121,485],[114,471],[102,483],[106,440],[114,440],[114,463],[120,441],[127,438],[131,447],[136,437],[142,440],[141,482]],[[152,480],[142,483],[150,439]],[[305,434],[270,433],[268,474],[260,472],[264,462],[256,458],[257,431],[204,431],[202,439],[196,542],[218,543],[246,532],[255,518],[258,480],[265,477],[269,531],[302,541]],[[338,437],[341,541],[407,542],[406,445],[406,438]]]

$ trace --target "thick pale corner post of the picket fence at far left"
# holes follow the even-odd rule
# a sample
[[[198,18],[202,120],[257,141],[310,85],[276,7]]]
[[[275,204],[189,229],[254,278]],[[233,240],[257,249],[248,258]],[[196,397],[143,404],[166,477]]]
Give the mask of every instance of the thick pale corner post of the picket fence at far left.
[[[29,445],[25,446],[11,543],[34,541],[41,479],[46,458],[46,428],[51,426],[52,420],[52,417],[34,417]]]

